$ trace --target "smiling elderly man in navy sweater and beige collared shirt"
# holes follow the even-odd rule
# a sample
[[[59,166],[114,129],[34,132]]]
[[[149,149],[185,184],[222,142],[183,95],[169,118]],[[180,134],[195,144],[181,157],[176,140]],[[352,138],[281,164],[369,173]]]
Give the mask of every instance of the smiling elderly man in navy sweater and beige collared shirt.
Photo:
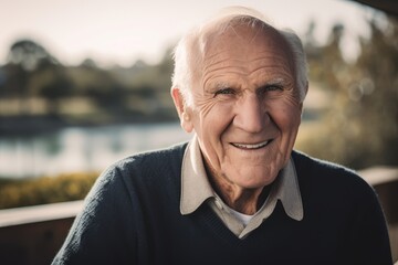
[[[192,140],[106,170],[54,264],[392,264],[374,190],[292,151],[307,91],[294,33],[237,9],[175,60]]]

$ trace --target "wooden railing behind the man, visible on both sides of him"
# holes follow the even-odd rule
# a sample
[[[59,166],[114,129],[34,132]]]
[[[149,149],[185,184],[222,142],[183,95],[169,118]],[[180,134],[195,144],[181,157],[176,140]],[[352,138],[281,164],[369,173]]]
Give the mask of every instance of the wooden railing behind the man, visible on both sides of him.
[[[377,191],[398,264],[398,169],[370,168],[359,174]],[[50,264],[60,250],[82,201],[0,211],[0,264]]]

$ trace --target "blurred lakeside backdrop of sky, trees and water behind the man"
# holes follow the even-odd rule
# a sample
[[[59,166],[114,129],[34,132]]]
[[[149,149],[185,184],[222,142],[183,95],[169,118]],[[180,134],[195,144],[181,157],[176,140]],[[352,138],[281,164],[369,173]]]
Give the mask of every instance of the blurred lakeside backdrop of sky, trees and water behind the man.
[[[169,96],[172,46],[230,4],[305,44],[297,149],[397,166],[397,17],[344,0],[0,0],[0,208],[82,199],[114,161],[189,139]]]

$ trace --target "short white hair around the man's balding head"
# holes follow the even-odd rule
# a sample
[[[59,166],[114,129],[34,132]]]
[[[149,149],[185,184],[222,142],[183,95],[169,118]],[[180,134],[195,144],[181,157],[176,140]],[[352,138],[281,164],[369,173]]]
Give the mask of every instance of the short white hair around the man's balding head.
[[[231,7],[222,10],[212,20],[192,29],[180,39],[175,51],[175,68],[171,77],[171,88],[179,88],[187,106],[192,106],[192,86],[201,77],[201,65],[205,56],[205,46],[213,33],[222,34],[230,26],[247,25],[251,28],[274,29],[286,42],[292,54],[296,91],[302,103],[307,89],[307,64],[303,44],[300,38],[291,30],[276,29],[266,19],[253,9]]]

